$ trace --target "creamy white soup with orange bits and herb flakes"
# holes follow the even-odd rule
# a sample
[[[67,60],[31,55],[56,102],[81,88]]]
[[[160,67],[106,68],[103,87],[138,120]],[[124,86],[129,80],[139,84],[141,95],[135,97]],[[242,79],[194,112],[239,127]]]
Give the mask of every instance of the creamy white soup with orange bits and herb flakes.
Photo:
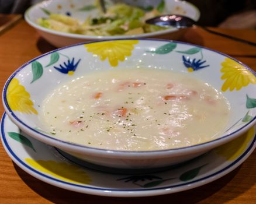
[[[161,150],[217,138],[229,103],[212,86],[159,69],[113,69],[53,90],[41,105],[56,138],[111,150]]]

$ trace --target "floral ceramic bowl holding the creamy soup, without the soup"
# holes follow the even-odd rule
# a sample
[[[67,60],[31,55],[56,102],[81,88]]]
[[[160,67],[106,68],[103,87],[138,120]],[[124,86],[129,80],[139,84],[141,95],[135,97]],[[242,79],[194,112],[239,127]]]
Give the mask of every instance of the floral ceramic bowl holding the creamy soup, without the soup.
[[[110,54],[105,56],[106,52]],[[68,75],[65,65],[71,59],[79,64],[69,66],[68,71],[73,75]],[[63,70],[54,68],[60,65]],[[41,102],[56,86],[89,72],[134,67],[191,75],[222,92],[231,107],[231,117],[223,135],[210,142],[178,149],[124,152],[81,146],[39,131]],[[105,40],[51,51],[14,72],[5,84],[2,99],[6,113],[27,135],[89,163],[115,168],[158,168],[181,163],[237,138],[256,122],[254,71],[220,52],[168,40]]]

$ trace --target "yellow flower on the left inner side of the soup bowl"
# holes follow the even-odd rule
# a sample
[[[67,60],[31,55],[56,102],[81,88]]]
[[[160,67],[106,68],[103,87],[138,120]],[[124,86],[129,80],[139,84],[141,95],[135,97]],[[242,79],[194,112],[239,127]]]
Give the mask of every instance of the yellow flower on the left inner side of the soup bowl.
[[[19,85],[18,79],[13,78],[9,83],[6,98],[11,110],[37,114],[36,109],[33,108],[33,102],[30,100],[30,94],[27,93],[24,86]]]

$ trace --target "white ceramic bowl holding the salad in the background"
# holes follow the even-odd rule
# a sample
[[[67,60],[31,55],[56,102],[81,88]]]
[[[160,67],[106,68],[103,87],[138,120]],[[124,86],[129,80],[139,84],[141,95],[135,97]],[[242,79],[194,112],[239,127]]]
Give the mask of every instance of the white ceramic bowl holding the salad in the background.
[[[40,17],[48,17],[49,12],[68,14],[71,17],[75,17],[84,21],[87,16],[95,16],[98,13],[98,9],[94,6],[95,0],[88,1],[68,1],[68,0],[54,0],[43,1],[27,9],[25,13],[25,20],[30,26],[34,27],[40,35],[45,38],[49,43],[56,47],[64,47],[75,43],[81,43],[89,40],[97,39],[114,39],[114,38],[127,38],[127,36],[84,36],[81,34],[63,33],[60,31],[54,31],[39,26],[36,20]],[[151,1],[153,3],[153,1]],[[149,5],[148,5],[149,6]],[[165,0],[166,13],[180,14],[191,17],[191,19],[198,21],[200,12],[196,6],[185,1],[178,0]],[[137,34],[129,37],[158,37],[177,40],[185,30],[178,30],[175,28],[155,31],[153,33]]]

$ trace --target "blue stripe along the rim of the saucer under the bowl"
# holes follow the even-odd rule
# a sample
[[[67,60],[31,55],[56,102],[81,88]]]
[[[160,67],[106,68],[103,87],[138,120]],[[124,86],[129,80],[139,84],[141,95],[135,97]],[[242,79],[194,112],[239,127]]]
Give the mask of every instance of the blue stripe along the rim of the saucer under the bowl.
[[[168,189],[168,188],[177,188],[177,187],[182,187],[182,186],[188,186],[191,184],[195,184],[197,182],[200,181],[204,181],[207,180],[210,177],[215,177],[217,174],[223,173],[224,171],[228,170],[230,167],[234,166],[236,163],[238,163],[238,161],[240,161],[241,159],[243,159],[244,156],[246,156],[246,154],[248,152],[250,152],[250,150],[252,149],[252,147],[256,144],[256,135],[254,136],[254,139],[252,140],[250,146],[244,151],[243,154],[241,154],[240,157],[238,157],[238,159],[236,159],[235,161],[233,161],[233,163],[229,164],[227,167],[224,167],[222,170],[217,171],[216,173],[213,173],[211,175],[207,175],[206,177],[200,178],[198,180],[195,181],[190,181],[190,182],[186,182],[184,184],[178,184],[178,185],[171,185],[168,187],[161,187],[161,188],[150,188],[150,189],[105,189],[105,188],[96,188],[96,187],[88,187],[88,186],[84,186],[84,185],[78,185],[78,184],[72,184],[70,182],[66,182],[63,180],[58,180],[56,178],[50,177],[49,175],[43,174],[40,171],[35,170],[34,168],[30,167],[29,165],[27,165],[26,163],[24,163],[22,160],[19,159],[19,157],[12,151],[11,147],[9,146],[7,140],[6,140],[6,135],[5,135],[5,127],[4,127],[4,123],[5,123],[5,118],[6,118],[7,114],[6,112],[4,113],[4,115],[2,116],[2,120],[1,120],[1,133],[2,133],[2,140],[4,142],[4,145],[6,146],[6,148],[8,149],[9,153],[12,154],[12,156],[24,167],[26,167],[28,170],[33,171],[33,173],[39,174],[40,176],[47,178],[49,180],[53,180],[53,181],[57,181],[60,182],[61,184],[67,184],[67,185],[71,185],[74,187],[80,187],[80,188],[84,188],[84,189],[94,189],[97,191],[114,191],[114,192],[125,192],[125,191],[153,191],[153,190],[160,190],[160,189]],[[52,184],[53,185],[53,184]]]

